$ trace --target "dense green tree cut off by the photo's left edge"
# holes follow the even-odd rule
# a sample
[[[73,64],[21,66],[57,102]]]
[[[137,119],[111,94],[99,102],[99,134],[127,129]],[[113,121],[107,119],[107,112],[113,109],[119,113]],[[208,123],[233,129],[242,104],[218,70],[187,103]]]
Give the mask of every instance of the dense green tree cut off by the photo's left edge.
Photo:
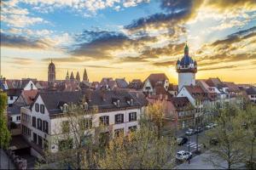
[[[6,115],[7,95],[0,92],[0,146],[1,148],[7,149],[9,146],[9,140],[11,135],[7,125]]]

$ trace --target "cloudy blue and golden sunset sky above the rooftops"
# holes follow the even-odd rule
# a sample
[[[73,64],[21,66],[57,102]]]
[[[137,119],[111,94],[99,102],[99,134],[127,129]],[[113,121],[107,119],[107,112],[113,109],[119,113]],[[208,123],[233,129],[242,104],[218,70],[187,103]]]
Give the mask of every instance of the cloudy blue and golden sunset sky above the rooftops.
[[[8,79],[144,80],[189,56],[197,79],[256,83],[255,0],[2,0],[1,63]]]

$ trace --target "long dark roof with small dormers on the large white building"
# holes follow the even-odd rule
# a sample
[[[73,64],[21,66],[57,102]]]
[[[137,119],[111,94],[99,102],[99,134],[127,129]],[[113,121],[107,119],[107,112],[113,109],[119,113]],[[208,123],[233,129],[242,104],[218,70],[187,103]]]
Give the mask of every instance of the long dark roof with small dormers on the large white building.
[[[79,104],[85,96],[86,102],[88,103],[89,109],[92,109],[95,105],[98,107],[99,111],[101,110],[113,110],[121,109],[127,107],[141,107],[145,105],[145,101],[141,94],[133,95],[126,90],[95,90],[90,89],[85,92],[76,91],[76,92],[39,92],[38,95],[44,101],[46,109],[49,111],[49,114],[58,114],[61,113],[60,105],[65,103],[70,104]],[[38,97],[38,96],[37,96]],[[120,106],[117,107],[113,104],[113,101],[119,99]],[[133,105],[128,104],[127,100],[133,99]],[[31,106],[32,108],[32,106]]]

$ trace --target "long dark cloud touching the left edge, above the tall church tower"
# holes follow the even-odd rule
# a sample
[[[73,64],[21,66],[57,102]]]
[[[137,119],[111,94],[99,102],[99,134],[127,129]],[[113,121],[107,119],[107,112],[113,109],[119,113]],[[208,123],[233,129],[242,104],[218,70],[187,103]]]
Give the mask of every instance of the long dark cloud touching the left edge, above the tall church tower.
[[[1,46],[9,48],[50,48],[50,44],[41,39],[32,39],[22,36],[11,36],[3,32],[0,33]]]

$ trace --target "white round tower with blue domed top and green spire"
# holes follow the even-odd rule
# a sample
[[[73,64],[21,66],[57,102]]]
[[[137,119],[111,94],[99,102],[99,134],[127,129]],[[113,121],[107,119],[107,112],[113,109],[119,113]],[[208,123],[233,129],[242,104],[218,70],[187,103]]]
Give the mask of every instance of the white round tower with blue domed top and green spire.
[[[178,91],[183,86],[195,86],[195,73],[197,72],[197,63],[189,57],[189,47],[186,43],[184,56],[181,60],[177,59],[176,69],[178,73]]]

